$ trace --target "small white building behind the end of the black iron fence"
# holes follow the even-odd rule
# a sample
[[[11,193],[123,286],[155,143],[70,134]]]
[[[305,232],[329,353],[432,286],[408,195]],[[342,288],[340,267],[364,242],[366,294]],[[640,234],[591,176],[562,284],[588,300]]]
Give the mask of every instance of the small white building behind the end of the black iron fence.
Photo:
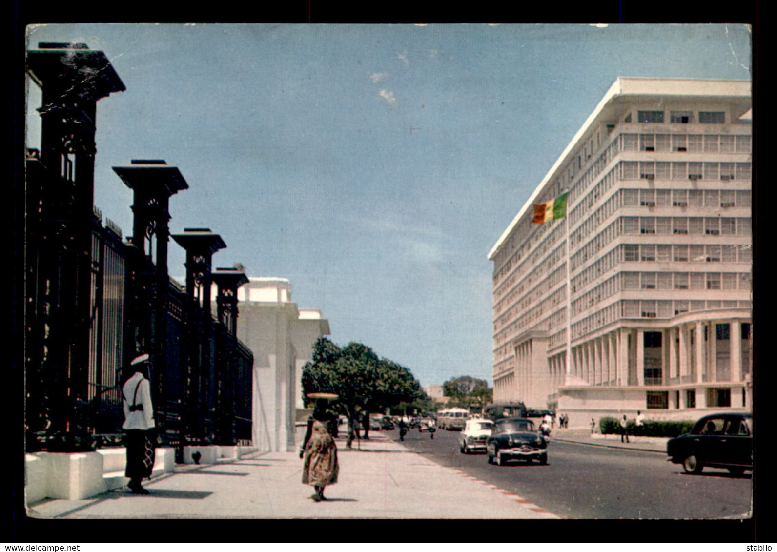
[[[302,407],[301,372],[329,321],[316,309],[291,302],[286,278],[249,278],[238,290],[239,339],[253,351],[253,444],[260,450],[295,449],[296,409]]]

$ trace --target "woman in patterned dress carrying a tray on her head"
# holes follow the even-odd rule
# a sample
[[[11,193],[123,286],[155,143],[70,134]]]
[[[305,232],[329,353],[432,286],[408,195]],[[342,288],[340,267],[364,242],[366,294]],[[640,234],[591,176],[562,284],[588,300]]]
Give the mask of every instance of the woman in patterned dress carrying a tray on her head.
[[[323,393],[310,393],[308,397],[313,397],[316,394]],[[329,417],[326,411],[326,399],[318,398],[313,410],[310,431],[305,435],[301,454],[303,458],[302,483],[312,485],[315,488],[315,494],[312,494],[310,498],[316,502],[326,500],[324,487],[337,483],[337,477],[340,473],[337,446],[327,428]]]

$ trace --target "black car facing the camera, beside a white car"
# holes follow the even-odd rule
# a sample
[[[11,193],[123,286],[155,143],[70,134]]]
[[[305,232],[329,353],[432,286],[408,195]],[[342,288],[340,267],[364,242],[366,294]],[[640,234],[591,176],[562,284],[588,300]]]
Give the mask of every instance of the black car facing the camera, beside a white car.
[[[538,460],[548,463],[548,442],[540,435],[533,421],[524,417],[504,417],[493,424],[486,439],[489,463],[503,466],[511,459]]]

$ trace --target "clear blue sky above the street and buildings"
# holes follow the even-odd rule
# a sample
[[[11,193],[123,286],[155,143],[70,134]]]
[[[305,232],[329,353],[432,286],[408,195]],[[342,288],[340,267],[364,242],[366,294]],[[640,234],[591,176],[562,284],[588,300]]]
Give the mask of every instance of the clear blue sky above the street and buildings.
[[[423,386],[492,382],[487,254],[618,76],[751,77],[737,24],[54,24],[28,40],[85,42],[127,86],[98,103],[104,217],[131,234],[112,166],[166,159],[190,186],[172,232],[218,232],[214,266],[289,278],[332,341]],[[169,267],[183,274],[173,242]]]

